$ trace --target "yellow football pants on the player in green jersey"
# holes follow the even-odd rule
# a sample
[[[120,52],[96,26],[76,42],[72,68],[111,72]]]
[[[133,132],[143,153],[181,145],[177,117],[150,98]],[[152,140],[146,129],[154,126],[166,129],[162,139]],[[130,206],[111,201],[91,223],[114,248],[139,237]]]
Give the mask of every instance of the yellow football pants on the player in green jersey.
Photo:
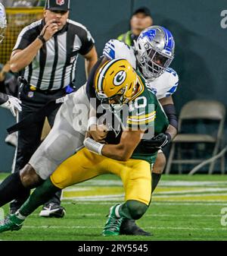
[[[51,182],[62,189],[104,173],[120,176],[126,201],[136,200],[149,205],[151,165],[145,160],[117,161],[83,148],[61,163],[61,166],[51,175]]]

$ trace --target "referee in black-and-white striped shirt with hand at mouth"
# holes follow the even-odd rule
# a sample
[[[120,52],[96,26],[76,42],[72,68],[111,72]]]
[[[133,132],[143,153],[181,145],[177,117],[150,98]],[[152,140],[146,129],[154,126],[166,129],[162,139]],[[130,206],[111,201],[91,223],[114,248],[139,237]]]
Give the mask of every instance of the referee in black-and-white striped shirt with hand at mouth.
[[[44,18],[24,27],[11,55],[11,71],[23,70],[20,100],[22,112],[19,121],[37,112],[50,100],[72,91],[75,80],[78,54],[85,58],[86,75],[97,61],[95,42],[86,27],[68,19],[70,0],[46,0]],[[58,109],[48,113],[49,124],[53,125]],[[28,163],[41,143],[45,119],[18,132],[17,150],[13,172]],[[56,148],[55,150],[58,150]],[[29,189],[21,188],[17,200],[11,202],[14,213],[30,195]],[[61,193],[48,201],[40,216],[64,216]]]

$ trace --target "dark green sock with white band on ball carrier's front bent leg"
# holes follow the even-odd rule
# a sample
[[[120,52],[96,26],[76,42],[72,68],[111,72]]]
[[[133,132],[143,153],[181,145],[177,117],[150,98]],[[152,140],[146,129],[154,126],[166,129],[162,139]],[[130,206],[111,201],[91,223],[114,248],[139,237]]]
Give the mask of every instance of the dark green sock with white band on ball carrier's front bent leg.
[[[116,216],[126,217],[131,220],[138,220],[148,210],[148,205],[141,203],[140,201],[128,200],[124,204],[120,204],[116,207]]]

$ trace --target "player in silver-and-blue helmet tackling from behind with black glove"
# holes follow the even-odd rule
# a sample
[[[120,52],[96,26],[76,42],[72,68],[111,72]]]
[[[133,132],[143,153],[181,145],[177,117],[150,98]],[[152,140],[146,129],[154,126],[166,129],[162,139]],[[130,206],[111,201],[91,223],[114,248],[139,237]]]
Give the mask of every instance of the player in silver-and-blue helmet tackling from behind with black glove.
[[[176,136],[178,129],[172,94],[178,87],[179,77],[176,71],[169,67],[174,58],[174,50],[173,34],[161,26],[151,26],[143,30],[135,42],[137,67],[146,78],[148,86],[156,94],[169,119],[169,127],[165,133],[144,141],[148,150],[160,148],[152,170],[152,192],[157,187],[166,166],[166,157],[162,148]]]

